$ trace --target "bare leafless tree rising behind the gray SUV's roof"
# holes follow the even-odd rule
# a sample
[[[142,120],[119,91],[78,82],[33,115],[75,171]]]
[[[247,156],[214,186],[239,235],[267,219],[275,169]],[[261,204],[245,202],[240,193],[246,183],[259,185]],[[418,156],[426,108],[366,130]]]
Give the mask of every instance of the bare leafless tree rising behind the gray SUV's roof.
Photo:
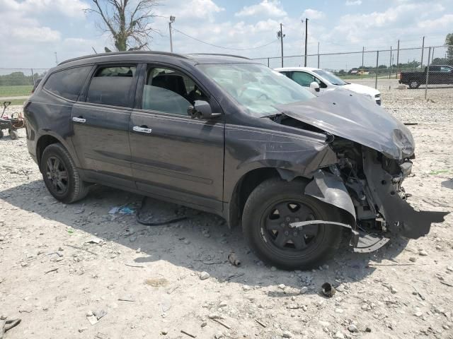
[[[118,51],[139,50],[148,46],[151,34],[158,32],[151,28],[154,18],[153,8],[159,0],[92,0],[94,8],[88,13],[96,13],[102,19],[100,28],[110,32]],[[105,47],[105,52],[110,49]]]

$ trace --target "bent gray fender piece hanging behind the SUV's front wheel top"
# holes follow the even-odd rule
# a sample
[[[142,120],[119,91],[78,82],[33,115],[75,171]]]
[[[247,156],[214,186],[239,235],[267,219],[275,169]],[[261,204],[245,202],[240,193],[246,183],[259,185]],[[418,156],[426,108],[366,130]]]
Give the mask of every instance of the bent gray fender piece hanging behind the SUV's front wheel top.
[[[343,184],[341,178],[336,175],[321,169],[316,170],[313,175],[313,180],[306,185],[304,193],[308,196],[313,196],[324,203],[329,203],[345,210],[351,215],[352,220],[354,220],[355,223],[354,204],[352,203],[345,184]]]

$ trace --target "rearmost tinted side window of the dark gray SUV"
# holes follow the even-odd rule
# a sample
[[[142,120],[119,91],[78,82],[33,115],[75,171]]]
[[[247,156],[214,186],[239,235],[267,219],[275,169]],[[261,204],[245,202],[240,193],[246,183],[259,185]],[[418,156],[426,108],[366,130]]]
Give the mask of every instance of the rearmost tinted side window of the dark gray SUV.
[[[44,88],[55,95],[76,101],[90,69],[91,66],[85,66],[55,72],[47,79]]]

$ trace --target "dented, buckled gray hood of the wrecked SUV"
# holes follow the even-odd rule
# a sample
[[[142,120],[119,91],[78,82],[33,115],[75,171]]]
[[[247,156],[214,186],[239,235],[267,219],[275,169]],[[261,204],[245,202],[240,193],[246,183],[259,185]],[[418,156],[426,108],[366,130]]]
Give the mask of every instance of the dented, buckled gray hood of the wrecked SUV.
[[[373,148],[391,159],[414,153],[411,131],[365,95],[338,89],[276,108],[288,117]]]

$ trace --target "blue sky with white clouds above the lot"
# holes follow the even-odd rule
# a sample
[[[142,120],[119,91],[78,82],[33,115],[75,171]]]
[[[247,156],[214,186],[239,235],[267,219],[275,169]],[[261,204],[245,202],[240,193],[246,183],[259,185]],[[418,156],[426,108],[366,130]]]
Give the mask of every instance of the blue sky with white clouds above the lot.
[[[58,61],[111,49],[108,35],[96,28],[97,18],[86,15],[89,0],[0,0],[0,68],[49,68]],[[214,52],[246,57],[280,56],[277,30],[283,24],[285,55],[302,54],[304,24],[309,18],[309,54],[320,42],[323,52],[418,47],[443,44],[453,32],[451,0],[162,0],[156,7],[154,28],[160,31],[150,41],[151,49],[169,51],[168,16],[176,16],[173,27],[199,40],[227,48],[220,49],[174,32],[174,52]],[[418,53],[418,52],[417,52]],[[438,51],[439,54],[445,52]],[[375,64],[375,55],[365,54],[365,64]],[[443,55],[442,55],[443,57]],[[389,54],[381,55],[389,64]],[[413,53],[401,53],[413,59]],[[316,66],[317,58],[309,59]],[[321,67],[345,69],[357,65],[352,57],[323,57]],[[381,59],[379,59],[381,60]],[[291,64],[300,64],[294,58]],[[348,65],[349,62],[349,65]],[[383,62],[384,63],[384,62]],[[271,66],[279,66],[275,60]],[[311,65],[310,65],[311,64]],[[381,64],[381,62],[379,62]],[[289,65],[288,65],[289,66]]]

